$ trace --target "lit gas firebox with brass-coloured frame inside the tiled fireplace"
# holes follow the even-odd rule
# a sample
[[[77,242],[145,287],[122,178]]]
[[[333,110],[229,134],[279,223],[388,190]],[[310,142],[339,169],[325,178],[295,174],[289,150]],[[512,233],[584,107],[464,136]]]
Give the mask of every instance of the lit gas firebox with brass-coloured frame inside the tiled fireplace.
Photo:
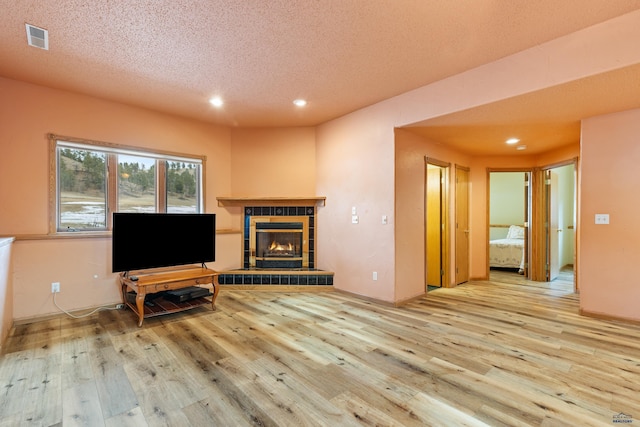
[[[256,224],[256,267],[301,268],[302,223]]]

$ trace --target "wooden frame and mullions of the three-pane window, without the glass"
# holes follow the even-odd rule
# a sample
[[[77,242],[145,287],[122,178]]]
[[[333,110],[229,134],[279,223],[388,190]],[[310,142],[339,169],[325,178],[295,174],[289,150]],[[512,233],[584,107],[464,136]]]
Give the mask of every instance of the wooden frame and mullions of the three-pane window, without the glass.
[[[169,161],[195,163],[199,165],[199,173],[196,174],[197,185],[197,213],[204,213],[206,160],[203,155],[192,155],[172,151],[150,149],[144,147],[116,144],[112,142],[88,140],[62,135],[49,134],[49,234],[55,235],[105,235],[111,233],[113,213],[118,209],[118,154],[151,157],[156,159],[156,203],[155,212],[167,212],[167,166]],[[60,215],[60,188],[58,148],[71,148],[105,153],[106,158],[106,226],[105,228],[77,231],[68,231],[59,228]],[[158,162],[158,160],[160,160]],[[162,161],[164,160],[164,161]],[[112,173],[113,171],[113,173]]]

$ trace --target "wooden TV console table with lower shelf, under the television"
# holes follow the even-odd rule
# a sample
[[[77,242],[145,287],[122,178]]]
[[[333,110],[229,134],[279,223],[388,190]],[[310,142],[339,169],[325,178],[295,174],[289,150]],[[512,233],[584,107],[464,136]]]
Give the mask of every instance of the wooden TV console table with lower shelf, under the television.
[[[137,280],[132,280],[135,277]],[[138,315],[138,326],[142,326],[145,317],[177,313],[204,304],[211,303],[211,309],[215,310],[216,298],[220,290],[218,272],[200,267],[144,272],[137,276],[125,276],[124,273],[121,273],[120,285],[122,286],[122,302]],[[172,302],[158,297],[145,304],[145,297],[149,294],[201,285],[211,285],[213,293],[183,302]],[[131,295],[129,290],[135,293],[135,304],[132,298],[128,297]]]

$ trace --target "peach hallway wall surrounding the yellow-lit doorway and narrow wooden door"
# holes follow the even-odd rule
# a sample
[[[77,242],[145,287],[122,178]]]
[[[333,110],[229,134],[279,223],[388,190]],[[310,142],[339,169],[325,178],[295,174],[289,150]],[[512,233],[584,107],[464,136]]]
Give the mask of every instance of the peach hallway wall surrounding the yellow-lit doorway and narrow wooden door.
[[[449,169],[449,222],[455,224],[455,166],[469,173],[469,276],[485,279],[487,270],[487,170],[532,169],[578,155],[578,144],[538,156],[518,154],[508,157],[470,157],[447,150],[404,129],[396,130],[396,283],[397,301],[424,292],[424,157],[451,163]],[[544,162],[544,163],[541,163]],[[547,163],[548,162],[548,163]],[[450,285],[455,282],[455,230],[450,231]]]

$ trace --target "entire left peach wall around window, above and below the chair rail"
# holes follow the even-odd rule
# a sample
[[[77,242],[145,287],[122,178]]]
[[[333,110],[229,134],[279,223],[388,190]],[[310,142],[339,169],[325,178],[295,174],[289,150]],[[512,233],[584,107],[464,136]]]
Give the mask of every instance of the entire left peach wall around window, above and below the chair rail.
[[[230,227],[231,215],[216,203],[231,187],[228,128],[8,79],[0,79],[0,94],[0,235],[48,232],[49,132],[207,156],[206,211],[218,214],[219,228]],[[218,236],[212,268],[237,263],[236,240]],[[109,238],[17,240],[12,264],[17,320],[58,312],[54,281],[68,309],[120,299]]]

